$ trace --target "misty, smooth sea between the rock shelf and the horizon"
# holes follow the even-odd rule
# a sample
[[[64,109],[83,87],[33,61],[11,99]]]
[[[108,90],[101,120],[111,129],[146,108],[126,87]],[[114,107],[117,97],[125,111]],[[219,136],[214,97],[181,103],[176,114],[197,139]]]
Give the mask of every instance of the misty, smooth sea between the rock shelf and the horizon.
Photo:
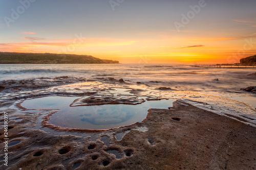
[[[178,64],[0,64],[1,80],[60,76],[113,77],[186,91],[240,91],[255,86],[256,68],[195,67]]]

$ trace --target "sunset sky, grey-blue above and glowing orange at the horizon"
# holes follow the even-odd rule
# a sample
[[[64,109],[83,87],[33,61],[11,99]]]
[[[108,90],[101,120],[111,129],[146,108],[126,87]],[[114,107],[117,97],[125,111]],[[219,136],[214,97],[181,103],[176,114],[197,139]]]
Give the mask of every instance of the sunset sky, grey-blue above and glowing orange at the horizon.
[[[0,0],[0,52],[120,63],[237,63],[256,54],[256,0]]]

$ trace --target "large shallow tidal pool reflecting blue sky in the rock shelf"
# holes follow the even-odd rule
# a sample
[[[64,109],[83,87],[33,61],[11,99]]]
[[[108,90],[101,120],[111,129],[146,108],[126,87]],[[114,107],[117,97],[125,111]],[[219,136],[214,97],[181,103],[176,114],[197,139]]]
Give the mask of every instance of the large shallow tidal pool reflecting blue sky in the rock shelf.
[[[70,104],[78,99],[70,96],[48,96],[26,100],[22,106],[27,109],[52,109],[57,110],[50,116],[49,124],[61,128],[75,129],[111,129],[128,126],[141,122],[151,108],[167,109],[173,106],[174,99],[145,101],[138,105],[95,105],[76,106]]]

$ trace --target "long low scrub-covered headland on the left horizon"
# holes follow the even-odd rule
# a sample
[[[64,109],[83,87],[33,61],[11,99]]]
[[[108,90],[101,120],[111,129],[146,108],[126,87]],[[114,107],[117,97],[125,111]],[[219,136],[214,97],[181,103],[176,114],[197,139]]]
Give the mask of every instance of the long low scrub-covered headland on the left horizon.
[[[0,52],[0,64],[118,64],[88,55]]]

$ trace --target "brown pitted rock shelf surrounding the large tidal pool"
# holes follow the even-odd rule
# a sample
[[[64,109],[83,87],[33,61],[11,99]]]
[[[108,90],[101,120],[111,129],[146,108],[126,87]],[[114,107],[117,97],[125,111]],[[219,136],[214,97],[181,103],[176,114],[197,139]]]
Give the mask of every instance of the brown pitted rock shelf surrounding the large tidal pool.
[[[12,84],[11,80],[8,83]],[[165,93],[173,97],[184,93],[160,89],[148,93],[146,90],[151,87],[113,78],[59,77],[53,80],[23,80],[19,87],[14,87],[15,83],[12,85],[1,91],[22,95],[19,98],[7,95],[0,108],[1,115],[4,112],[9,114],[8,126],[12,127],[8,130],[10,141],[20,141],[9,147],[8,169],[71,169],[75,163],[79,164],[77,169],[256,168],[256,128],[238,121],[238,117],[211,112],[210,108],[215,107],[209,107],[209,111],[199,108],[199,102],[202,106],[205,102],[203,96],[199,98],[197,93],[187,93],[184,100],[176,98],[177,101],[169,109],[148,110],[141,123],[101,132],[72,132],[53,130],[41,124],[49,110],[18,109],[15,105],[35,97],[92,95],[95,91],[111,87],[133,89],[136,95],[151,94],[150,100],[156,99],[153,96],[157,94],[164,99]],[[194,102],[198,101],[198,106],[186,102],[189,96],[193,96],[191,100]],[[216,101],[218,99],[221,98],[216,98]],[[220,105],[215,104],[217,107]],[[208,105],[213,106],[210,102]],[[249,121],[249,118],[244,117],[243,120]],[[22,120],[15,122],[16,119]],[[3,119],[1,121],[2,125]],[[3,139],[2,133],[0,137]],[[0,147],[3,148],[3,143]],[[109,151],[118,154],[115,156]],[[6,169],[2,156],[1,152],[0,167]]]

